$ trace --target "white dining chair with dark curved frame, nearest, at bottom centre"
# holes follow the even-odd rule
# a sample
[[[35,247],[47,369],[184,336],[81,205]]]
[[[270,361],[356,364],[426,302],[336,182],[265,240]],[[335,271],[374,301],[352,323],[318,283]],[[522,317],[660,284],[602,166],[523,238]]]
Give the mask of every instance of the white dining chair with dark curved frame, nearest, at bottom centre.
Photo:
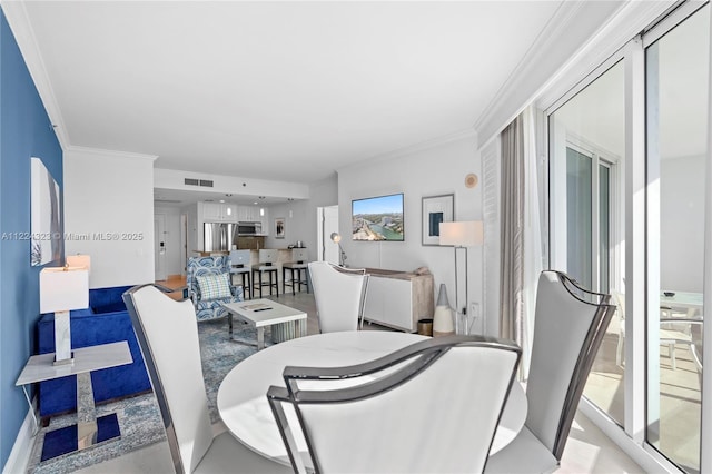
[[[476,473],[520,355],[503,339],[432,338],[355,366],[286,367],[267,398],[297,473]]]

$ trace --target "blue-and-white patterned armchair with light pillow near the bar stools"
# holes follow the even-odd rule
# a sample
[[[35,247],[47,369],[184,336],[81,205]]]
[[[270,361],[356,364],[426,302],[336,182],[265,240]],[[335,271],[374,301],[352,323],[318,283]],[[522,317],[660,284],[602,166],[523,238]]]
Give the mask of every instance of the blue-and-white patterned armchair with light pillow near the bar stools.
[[[230,259],[227,255],[190,257],[186,285],[198,320],[225,317],[227,310],[220,303],[243,300],[243,287],[231,284]]]

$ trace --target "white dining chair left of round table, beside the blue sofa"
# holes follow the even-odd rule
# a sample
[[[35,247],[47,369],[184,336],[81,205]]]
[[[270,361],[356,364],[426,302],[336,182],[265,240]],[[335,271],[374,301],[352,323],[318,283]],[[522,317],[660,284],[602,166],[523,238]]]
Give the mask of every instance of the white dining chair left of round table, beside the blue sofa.
[[[177,473],[281,473],[285,466],[240,444],[229,432],[212,434],[195,309],[154,285],[123,294],[146,362]]]

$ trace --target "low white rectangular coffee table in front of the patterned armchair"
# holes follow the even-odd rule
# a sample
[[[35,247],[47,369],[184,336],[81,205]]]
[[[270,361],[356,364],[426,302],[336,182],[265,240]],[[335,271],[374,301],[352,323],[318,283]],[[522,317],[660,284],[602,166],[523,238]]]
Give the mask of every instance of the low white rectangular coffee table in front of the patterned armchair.
[[[233,337],[233,316],[257,328],[257,350],[265,348],[265,327],[273,327],[273,340],[278,343],[306,336],[307,314],[271,299],[260,298],[239,303],[222,303],[228,310],[228,325]]]

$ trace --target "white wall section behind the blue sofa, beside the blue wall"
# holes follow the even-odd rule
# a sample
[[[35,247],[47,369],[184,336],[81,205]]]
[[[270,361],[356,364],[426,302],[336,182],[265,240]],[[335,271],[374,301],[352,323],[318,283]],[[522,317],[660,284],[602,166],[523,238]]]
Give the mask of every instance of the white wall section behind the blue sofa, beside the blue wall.
[[[85,148],[65,154],[65,249],[91,256],[91,288],[154,280],[154,159]]]

